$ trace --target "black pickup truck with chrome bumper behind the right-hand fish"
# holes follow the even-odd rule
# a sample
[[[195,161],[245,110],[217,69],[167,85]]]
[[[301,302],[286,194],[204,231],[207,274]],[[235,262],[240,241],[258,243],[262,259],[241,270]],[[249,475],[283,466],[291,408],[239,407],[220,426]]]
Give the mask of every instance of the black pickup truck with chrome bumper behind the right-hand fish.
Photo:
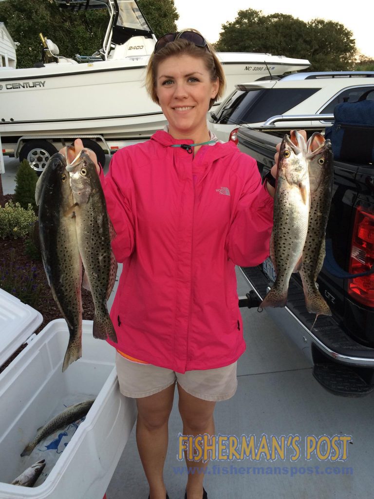
[[[256,159],[262,177],[274,164],[277,131],[238,130],[239,149]],[[313,131],[307,131],[308,138]],[[333,315],[319,316],[313,326],[315,315],[305,307],[298,273],[292,274],[287,306],[266,313],[313,362],[313,375],[324,388],[364,396],[374,390],[374,273],[349,276],[374,265],[374,165],[334,162],[326,247],[317,283]],[[241,270],[262,299],[274,280],[270,258]]]

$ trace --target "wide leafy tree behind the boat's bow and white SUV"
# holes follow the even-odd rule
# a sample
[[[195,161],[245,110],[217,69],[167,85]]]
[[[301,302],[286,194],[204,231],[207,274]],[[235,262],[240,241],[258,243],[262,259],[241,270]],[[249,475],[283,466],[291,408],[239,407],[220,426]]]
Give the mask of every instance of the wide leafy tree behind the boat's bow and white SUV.
[[[288,14],[263,15],[251,8],[239,10],[233,22],[222,25],[215,47],[309,59],[312,71],[350,69],[356,53],[352,32],[339,22],[305,22]]]

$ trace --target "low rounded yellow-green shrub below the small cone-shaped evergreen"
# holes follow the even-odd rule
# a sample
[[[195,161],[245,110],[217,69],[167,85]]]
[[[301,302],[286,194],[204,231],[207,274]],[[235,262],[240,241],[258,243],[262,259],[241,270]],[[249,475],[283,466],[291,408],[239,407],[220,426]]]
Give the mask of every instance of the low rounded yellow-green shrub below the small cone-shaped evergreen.
[[[24,210],[19,203],[13,204],[9,201],[4,208],[0,208],[0,238],[25,238],[36,220],[30,204],[27,210]]]

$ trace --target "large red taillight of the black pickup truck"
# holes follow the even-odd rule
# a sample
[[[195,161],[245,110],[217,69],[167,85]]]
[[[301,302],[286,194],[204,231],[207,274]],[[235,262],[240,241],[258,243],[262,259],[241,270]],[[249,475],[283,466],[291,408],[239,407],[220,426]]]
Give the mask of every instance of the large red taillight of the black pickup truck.
[[[374,265],[374,214],[357,208],[353,228],[351,274],[367,272]],[[349,279],[348,293],[364,305],[374,307],[374,273]]]

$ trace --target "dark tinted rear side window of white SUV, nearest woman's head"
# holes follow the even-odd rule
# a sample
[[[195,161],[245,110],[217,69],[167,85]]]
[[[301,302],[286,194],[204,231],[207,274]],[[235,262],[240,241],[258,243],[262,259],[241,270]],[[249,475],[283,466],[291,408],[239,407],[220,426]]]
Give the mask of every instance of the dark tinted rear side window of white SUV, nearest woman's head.
[[[257,123],[283,114],[320,88],[266,88],[240,92],[222,106],[217,123]]]

